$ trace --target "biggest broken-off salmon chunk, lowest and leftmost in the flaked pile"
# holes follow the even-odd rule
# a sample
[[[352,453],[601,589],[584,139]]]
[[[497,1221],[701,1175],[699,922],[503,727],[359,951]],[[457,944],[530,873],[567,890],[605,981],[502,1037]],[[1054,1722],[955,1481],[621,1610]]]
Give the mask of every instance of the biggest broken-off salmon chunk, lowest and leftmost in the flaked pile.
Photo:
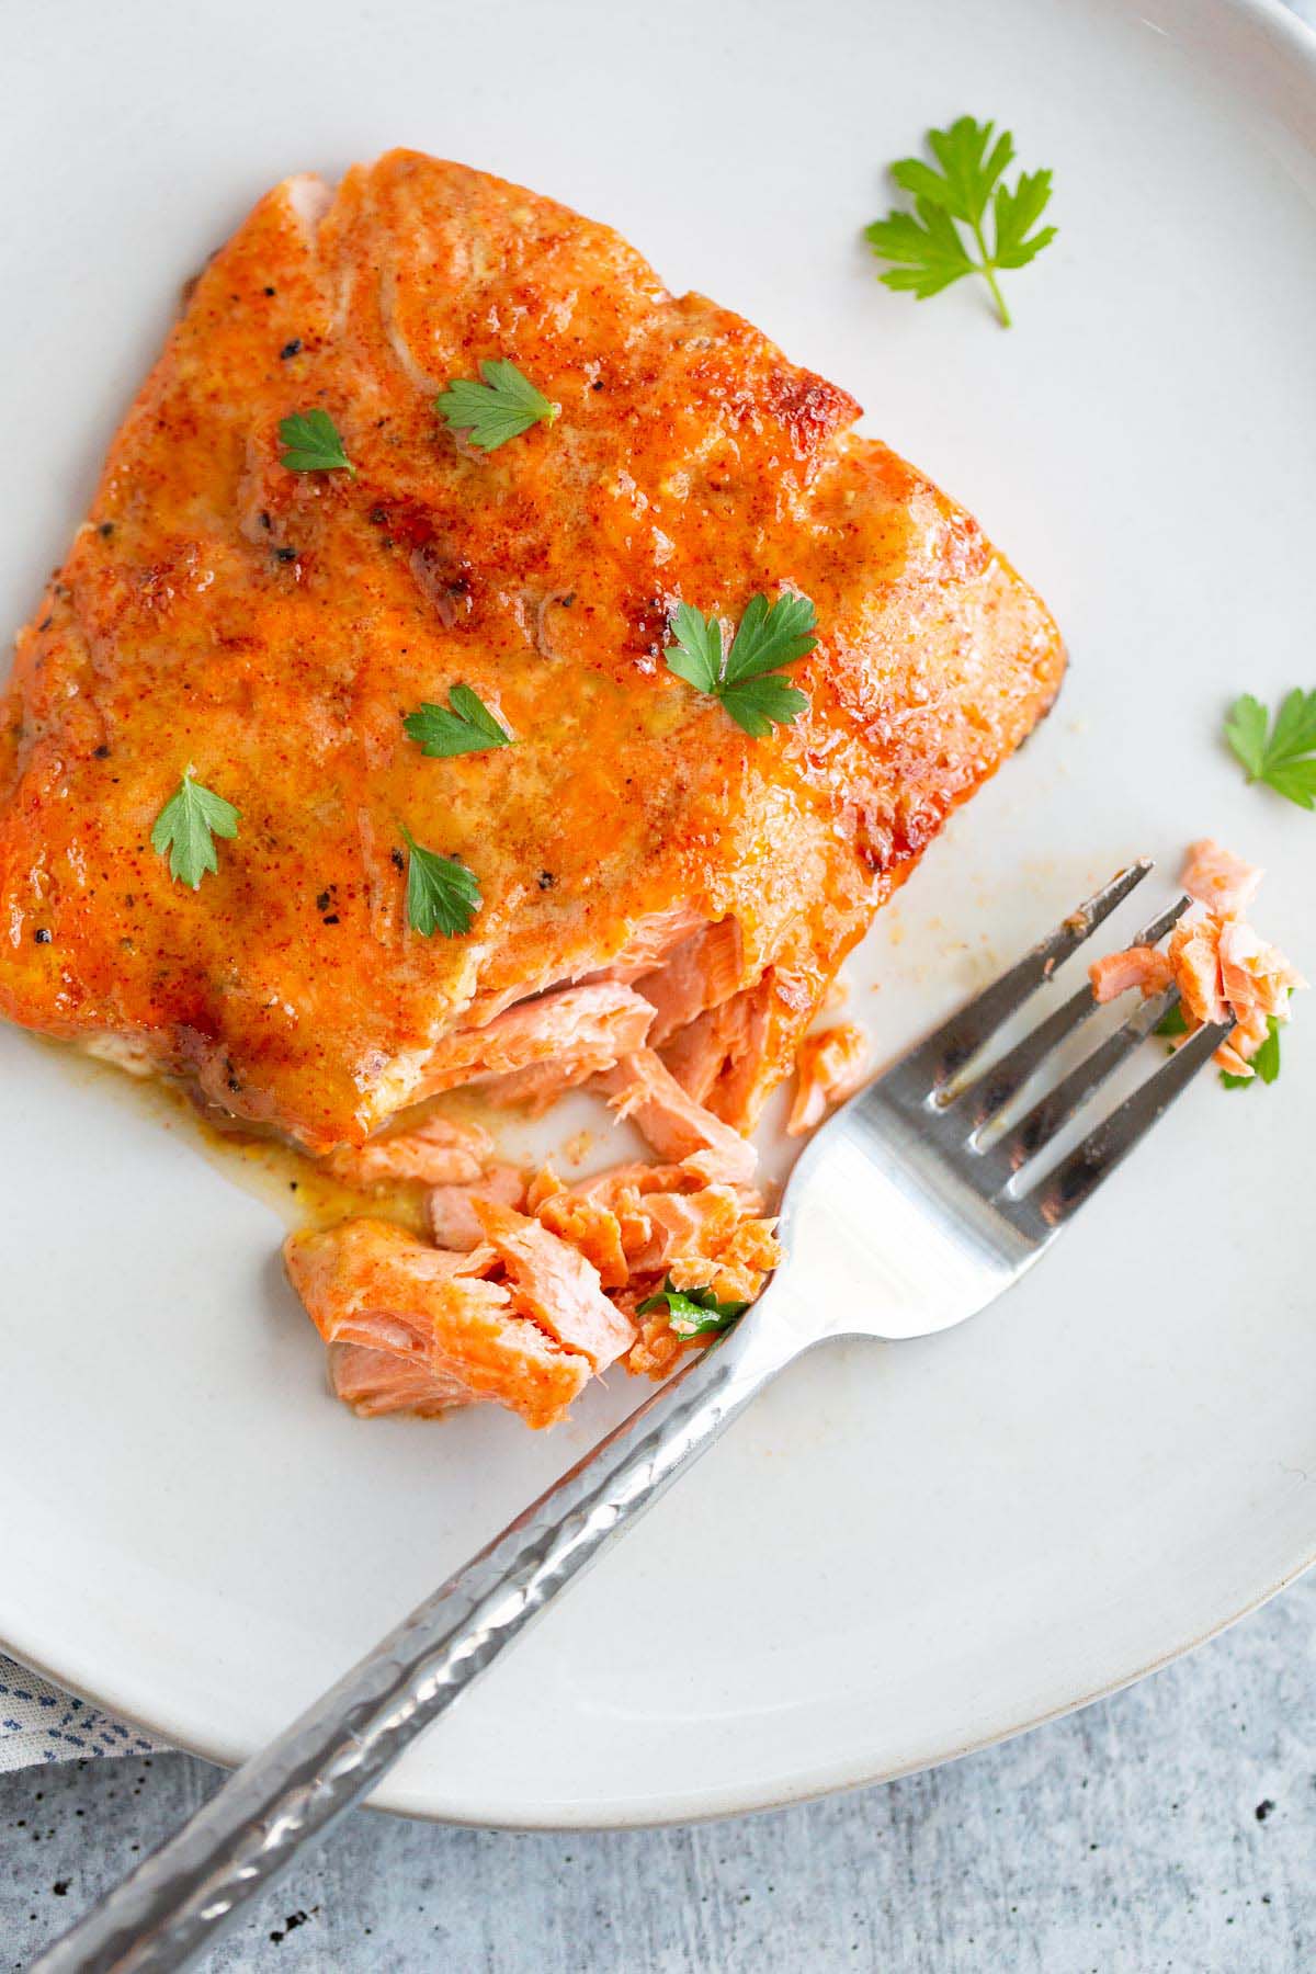
[[[590,1380],[584,1352],[562,1348],[515,1307],[505,1283],[475,1271],[493,1265],[489,1250],[440,1253],[391,1222],[343,1220],[324,1234],[294,1234],[284,1261],[328,1344],[355,1344],[412,1368],[414,1378],[393,1374],[391,1384],[371,1360],[339,1362],[349,1402],[365,1409],[387,1409],[391,1392],[404,1404],[432,1386],[446,1394],[442,1404],[491,1400],[541,1427],[560,1419]]]

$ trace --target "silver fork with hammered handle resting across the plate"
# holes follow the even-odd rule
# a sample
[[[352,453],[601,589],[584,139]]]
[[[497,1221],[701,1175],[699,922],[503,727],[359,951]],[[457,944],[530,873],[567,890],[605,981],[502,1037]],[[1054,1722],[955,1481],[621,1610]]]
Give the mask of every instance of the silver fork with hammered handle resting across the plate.
[[[1121,871],[925,1042],[844,1103],[785,1188],[785,1263],[754,1311],[472,1557],[278,1741],[255,1755],[34,1974],[183,1966],[485,1672],[750,1400],[831,1338],[927,1336],[992,1303],[1207,1062],[1204,1028],[1038,1184],[1022,1169],[1174,1005],[1140,1005],[1018,1121],[990,1125],[1093,1013],[1083,987],[998,1062],[973,1058],[1138,884]],[[1136,944],[1154,944],[1180,898]]]

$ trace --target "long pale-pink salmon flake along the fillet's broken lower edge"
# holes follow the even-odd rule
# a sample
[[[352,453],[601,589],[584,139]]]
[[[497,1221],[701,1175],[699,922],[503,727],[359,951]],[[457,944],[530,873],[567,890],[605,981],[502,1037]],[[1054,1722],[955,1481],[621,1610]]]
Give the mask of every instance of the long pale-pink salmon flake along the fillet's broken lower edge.
[[[424,1092],[430,1096],[487,1078],[511,1080],[533,1064],[558,1064],[572,1082],[584,1082],[639,1048],[651,1021],[651,1003],[616,981],[558,987],[533,1001],[517,1001],[483,1028],[460,1028],[444,1036],[426,1066]],[[558,1082],[558,1088],[566,1084]],[[497,1096],[499,1090],[489,1094]],[[513,1101],[519,1100],[513,1096]]]

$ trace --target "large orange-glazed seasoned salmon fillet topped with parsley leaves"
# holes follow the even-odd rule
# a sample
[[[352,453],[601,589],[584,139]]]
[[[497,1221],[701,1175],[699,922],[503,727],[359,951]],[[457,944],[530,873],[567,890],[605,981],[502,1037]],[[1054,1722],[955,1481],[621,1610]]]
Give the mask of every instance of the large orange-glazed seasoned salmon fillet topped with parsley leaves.
[[[489,454],[434,411],[487,359],[558,407]],[[280,464],[308,411],[353,474]],[[278,186],[191,286],[18,638],[0,1015],[312,1151],[452,1082],[543,1100],[657,1019],[685,1094],[746,1129],[1063,665],[856,417],[533,191],[404,150]],[[807,709],[750,738],[663,663],[671,616],[789,590]],[[515,744],[422,756],[402,717],[454,683]],[[241,817],[197,890],[150,843],[189,768]],[[410,930],[402,831],[474,873],[466,936]],[[614,999],[586,1019],[574,983]]]

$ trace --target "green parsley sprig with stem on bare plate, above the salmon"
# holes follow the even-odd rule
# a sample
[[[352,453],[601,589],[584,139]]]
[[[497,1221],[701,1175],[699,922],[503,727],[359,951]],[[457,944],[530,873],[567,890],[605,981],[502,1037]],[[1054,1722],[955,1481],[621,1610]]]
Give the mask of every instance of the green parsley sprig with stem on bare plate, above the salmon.
[[[923,158],[900,158],[892,178],[914,197],[914,211],[890,211],[864,229],[864,239],[880,261],[896,263],[880,278],[888,288],[914,294],[925,302],[941,294],[965,274],[983,274],[992,290],[1000,326],[1010,328],[996,274],[1002,268],[1028,266],[1056,239],[1056,227],[1034,231],[1052,197],[1050,172],[1020,172],[1010,190],[1002,184],[1014,160],[1014,138],[1008,130],[992,142],[992,122],[959,116],[949,130],[929,130],[927,144],[937,168]],[[987,215],[992,219],[992,245],[987,245]],[[979,259],[965,243],[969,229]]]

